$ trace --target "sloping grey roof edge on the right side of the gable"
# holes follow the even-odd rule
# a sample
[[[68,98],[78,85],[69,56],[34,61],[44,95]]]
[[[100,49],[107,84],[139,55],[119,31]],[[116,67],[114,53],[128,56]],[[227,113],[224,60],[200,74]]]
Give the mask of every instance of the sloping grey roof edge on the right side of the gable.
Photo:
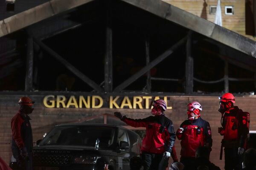
[[[256,58],[256,41],[161,0],[121,0]]]

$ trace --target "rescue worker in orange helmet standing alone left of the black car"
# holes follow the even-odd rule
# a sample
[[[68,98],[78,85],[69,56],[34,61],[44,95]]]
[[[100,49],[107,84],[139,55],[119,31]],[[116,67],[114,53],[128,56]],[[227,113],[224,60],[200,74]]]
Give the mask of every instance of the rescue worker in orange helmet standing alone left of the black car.
[[[33,170],[32,148],[33,137],[29,114],[34,110],[33,102],[29,97],[21,97],[18,104],[20,109],[12,118],[12,154],[17,160],[20,170]]]

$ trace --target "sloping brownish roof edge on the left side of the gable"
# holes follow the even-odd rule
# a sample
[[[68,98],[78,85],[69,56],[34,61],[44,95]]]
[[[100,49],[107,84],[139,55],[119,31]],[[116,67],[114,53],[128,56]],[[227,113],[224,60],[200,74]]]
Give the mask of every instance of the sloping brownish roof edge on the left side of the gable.
[[[50,0],[47,3],[0,20],[0,37],[91,1],[93,0]]]

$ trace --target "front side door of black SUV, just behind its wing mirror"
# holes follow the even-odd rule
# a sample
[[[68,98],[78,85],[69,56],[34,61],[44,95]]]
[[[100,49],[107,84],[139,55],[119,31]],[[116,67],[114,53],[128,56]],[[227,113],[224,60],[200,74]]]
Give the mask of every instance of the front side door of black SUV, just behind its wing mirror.
[[[120,143],[128,142],[128,137],[126,130],[119,129],[118,130],[118,144],[120,147]],[[118,170],[130,170],[130,149],[121,149],[119,148],[118,155]]]

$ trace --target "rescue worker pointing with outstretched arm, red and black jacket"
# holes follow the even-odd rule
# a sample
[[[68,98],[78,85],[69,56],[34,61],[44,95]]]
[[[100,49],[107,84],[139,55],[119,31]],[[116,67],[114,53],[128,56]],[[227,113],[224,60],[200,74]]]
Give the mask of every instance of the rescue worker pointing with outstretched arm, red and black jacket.
[[[166,102],[158,99],[152,102],[151,113],[145,119],[130,119],[115,112],[114,115],[132,127],[146,127],[141,151],[143,170],[165,170],[175,142],[175,131],[172,121],[164,115]],[[177,156],[176,156],[177,159]]]

